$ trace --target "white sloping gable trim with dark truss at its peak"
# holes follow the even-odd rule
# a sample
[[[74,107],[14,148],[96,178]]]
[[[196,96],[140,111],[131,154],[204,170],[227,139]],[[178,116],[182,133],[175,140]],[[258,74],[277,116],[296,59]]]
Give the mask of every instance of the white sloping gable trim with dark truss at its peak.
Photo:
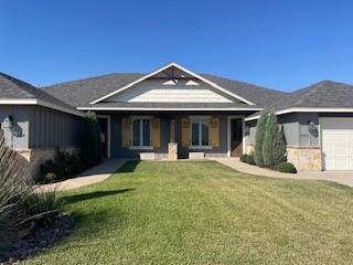
[[[214,83],[214,82],[212,82],[212,81],[210,81],[210,80],[207,80],[207,78],[205,78],[205,77],[203,77],[203,76],[201,76],[199,74],[195,74],[195,73],[193,73],[193,72],[191,72],[191,71],[189,71],[189,70],[186,70],[186,68],[184,68],[184,67],[182,67],[180,65],[178,65],[176,63],[168,64],[168,65],[165,65],[165,66],[163,66],[163,67],[161,67],[161,68],[159,68],[159,70],[157,70],[157,71],[154,71],[154,72],[152,72],[150,74],[141,76],[140,78],[138,78],[138,80],[136,80],[136,81],[133,81],[133,82],[131,82],[131,83],[129,83],[129,84],[127,84],[127,85],[125,85],[125,86],[122,86],[122,87],[120,87],[120,88],[118,88],[118,89],[116,89],[116,91],[114,91],[114,92],[111,92],[111,93],[98,98],[98,99],[95,99],[95,100],[90,102],[90,104],[97,104],[99,102],[106,100],[107,98],[113,97],[113,96],[115,96],[115,95],[117,95],[119,93],[122,93],[126,89],[129,89],[129,88],[138,85],[139,83],[141,83],[143,81],[147,81],[147,80],[149,80],[151,77],[154,77],[154,78],[169,78],[170,81],[172,81],[175,76],[178,78],[182,78],[182,80],[189,78],[189,80],[201,81],[201,82],[210,85],[211,87],[213,87],[213,88],[215,88],[215,89],[217,89],[217,91],[220,91],[220,92],[222,92],[222,93],[224,93],[224,94],[226,94],[226,95],[228,95],[228,96],[231,96],[233,98],[236,98],[237,100],[240,100],[240,102],[243,102],[243,103],[245,103],[247,105],[255,105],[253,102],[249,102],[249,100],[245,99],[244,97],[238,96],[237,94],[232,93],[228,89],[225,89],[225,88],[221,87],[218,84],[216,84],[216,83]]]

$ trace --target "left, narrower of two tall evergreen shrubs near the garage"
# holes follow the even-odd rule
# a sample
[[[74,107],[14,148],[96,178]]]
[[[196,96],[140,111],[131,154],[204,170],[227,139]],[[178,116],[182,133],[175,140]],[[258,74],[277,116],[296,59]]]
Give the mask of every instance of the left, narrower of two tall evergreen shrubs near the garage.
[[[264,167],[263,146],[265,140],[267,117],[268,112],[263,110],[256,125],[254,160],[258,167]]]

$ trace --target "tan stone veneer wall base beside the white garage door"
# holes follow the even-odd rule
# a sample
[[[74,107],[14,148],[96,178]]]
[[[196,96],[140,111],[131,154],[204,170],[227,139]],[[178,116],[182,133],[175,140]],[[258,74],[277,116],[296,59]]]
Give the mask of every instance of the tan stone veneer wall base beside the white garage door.
[[[287,146],[287,160],[298,170],[322,170],[320,147]]]

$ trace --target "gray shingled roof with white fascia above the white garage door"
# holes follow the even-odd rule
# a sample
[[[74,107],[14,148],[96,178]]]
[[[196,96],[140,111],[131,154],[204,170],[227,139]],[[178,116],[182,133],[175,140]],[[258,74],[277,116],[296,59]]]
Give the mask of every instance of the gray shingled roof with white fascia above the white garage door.
[[[353,112],[353,85],[322,81],[287,94],[268,107],[278,115],[295,112]],[[255,113],[246,120],[258,117],[259,113]]]

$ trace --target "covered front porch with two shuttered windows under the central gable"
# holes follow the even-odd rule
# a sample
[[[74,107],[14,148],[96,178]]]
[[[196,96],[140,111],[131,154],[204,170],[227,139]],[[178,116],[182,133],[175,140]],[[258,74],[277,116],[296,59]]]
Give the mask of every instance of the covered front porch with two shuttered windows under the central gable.
[[[104,158],[192,159],[246,152],[245,113],[97,113]]]

